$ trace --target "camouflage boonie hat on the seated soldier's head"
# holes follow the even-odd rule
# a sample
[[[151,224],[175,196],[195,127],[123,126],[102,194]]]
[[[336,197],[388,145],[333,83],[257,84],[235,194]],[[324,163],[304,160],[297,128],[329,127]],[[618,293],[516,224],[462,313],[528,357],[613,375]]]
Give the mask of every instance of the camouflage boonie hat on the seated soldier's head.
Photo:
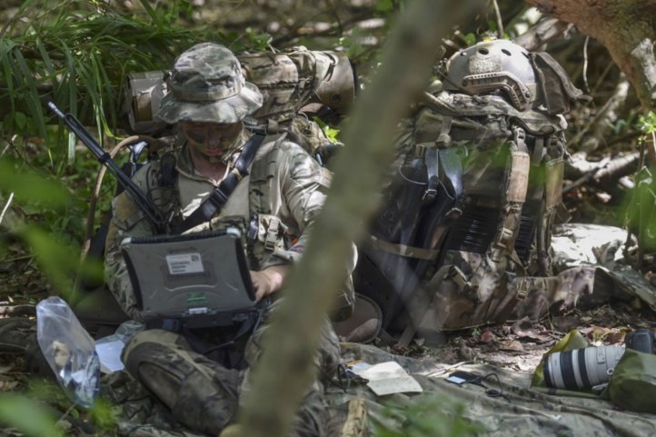
[[[166,84],[168,94],[157,116],[170,124],[236,123],[263,102],[257,86],[246,82],[233,52],[214,43],[194,45],[179,55]]]

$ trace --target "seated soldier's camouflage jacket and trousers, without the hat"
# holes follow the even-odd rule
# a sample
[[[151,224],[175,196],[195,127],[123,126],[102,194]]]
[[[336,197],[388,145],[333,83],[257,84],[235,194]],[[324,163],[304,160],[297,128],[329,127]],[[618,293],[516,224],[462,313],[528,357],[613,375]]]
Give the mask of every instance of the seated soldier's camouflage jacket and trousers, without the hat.
[[[244,133],[240,143],[244,144],[247,137]],[[232,156],[226,157],[229,165],[234,162],[239,149],[235,147]],[[134,180],[144,191],[148,190],[162,211],[172,215],[173,221],[181,221],[204,201],[214,185],[194,171],[184,144],[174,153],[178,170],[174,186],[159,186],[162,170],[159,161],[146,165],[134,176]],[[290,263],[303,253],[313,218],[323,205],[323,191],[328,183],[327,171],[299,145],[286,141],[283,136],[267,138],[253,161],[250,176],[238,184],[221,214],[189,232],[221,229],[226,223],[239,224],[245,230],[245,226],[254,223],[257,227],[255,238],[246,244],[250,268],[258,270],[269,265]],[[127,235],[150,235],[153,232],[126,194],[117,196],[113,206],[105,276],[124,311],[139,320],[141,317],[119,243]],[[352,269],[354,256],[353,253]],[[344,294],[349,292],[353,290],[347,290]],[[284,291],[278,293],[283,295]],[[331,362],[329,357],[334,355],[337,345],[330,324],[326,323],[325,330],[323,338],[332,338],[334,342],[323,342],[326,349],[322,349],[320,354],[323,358],[318,363]],[[247,347],[247,361],[249,357],[254,361],[251,350],[252,347]],[[175,419],[191,429],[216,433],[233,417],[244,375],[228,371],[194,353],[182,337],[146,331],[135,337],[124,360],[134,377],[144,382],[164,404],[172,408]],[[334,358],[332,361],[334,363]],[[140,367],[144,370],[139,371]],[[188,382],[184,389],[181,381]],[[321,384],[317,382],[313,391],[308,393],[299,416],[297,435],[319,435],[318,427],[323,421],[321,393]]]

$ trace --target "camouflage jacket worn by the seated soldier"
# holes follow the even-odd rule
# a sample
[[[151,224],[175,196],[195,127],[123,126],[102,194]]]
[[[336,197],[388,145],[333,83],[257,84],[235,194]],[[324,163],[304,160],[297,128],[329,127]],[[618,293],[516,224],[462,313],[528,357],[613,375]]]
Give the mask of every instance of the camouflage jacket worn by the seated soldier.
[[[228,171],[248,137],[244,130],[227,154]],[[173,224],[192,214],[214,190],[214,184],[194,170],[186,144],[177,144],[171,153],[177,170],[174,184],[162,186],[162,160],[146,164],[133,180],[166,216],[171,217]],[[298,144],[286,140],[284,135],[267,136],[255,155],[250,174],[237,185],[223,210],[187,233],[237,224],[253,236],[245,244],[251,270],[290,263],[303,253],[329,182],[329,172]],[[124,312],[140,320],[119,244],[126,236],[151,235],[153,230],[126,194],[114,198],[112,210],[114,216],[106,241],[105,280]]]

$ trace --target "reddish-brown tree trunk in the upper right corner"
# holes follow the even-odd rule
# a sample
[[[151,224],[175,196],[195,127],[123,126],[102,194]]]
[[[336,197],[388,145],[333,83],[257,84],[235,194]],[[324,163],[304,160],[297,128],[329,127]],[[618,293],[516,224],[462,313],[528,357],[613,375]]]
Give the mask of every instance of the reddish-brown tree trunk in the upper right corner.
[[[645,108],[656,99],[654,0],[526,0],[604,45]]]

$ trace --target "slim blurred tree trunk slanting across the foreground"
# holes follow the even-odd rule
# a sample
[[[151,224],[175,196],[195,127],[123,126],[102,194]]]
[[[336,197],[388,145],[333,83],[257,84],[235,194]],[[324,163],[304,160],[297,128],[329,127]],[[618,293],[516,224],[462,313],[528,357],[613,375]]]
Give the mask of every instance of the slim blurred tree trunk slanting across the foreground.
[[[303,259],[289,277],[280,312],[274,314],[270,342],[264,344],[253,389],[239,415],[241,435],[289,434],[293,414],[313,380],[312,357],[323,316],[345,279],[343,260],[377,209],[376,194],[393,160],[396,125],[426,86],[442,36],[452,23],[474,14],[480,3],[464,0],[455,7],[445,0],[416,0],[397,22],[382,66],[353,108],[331,193]]]

